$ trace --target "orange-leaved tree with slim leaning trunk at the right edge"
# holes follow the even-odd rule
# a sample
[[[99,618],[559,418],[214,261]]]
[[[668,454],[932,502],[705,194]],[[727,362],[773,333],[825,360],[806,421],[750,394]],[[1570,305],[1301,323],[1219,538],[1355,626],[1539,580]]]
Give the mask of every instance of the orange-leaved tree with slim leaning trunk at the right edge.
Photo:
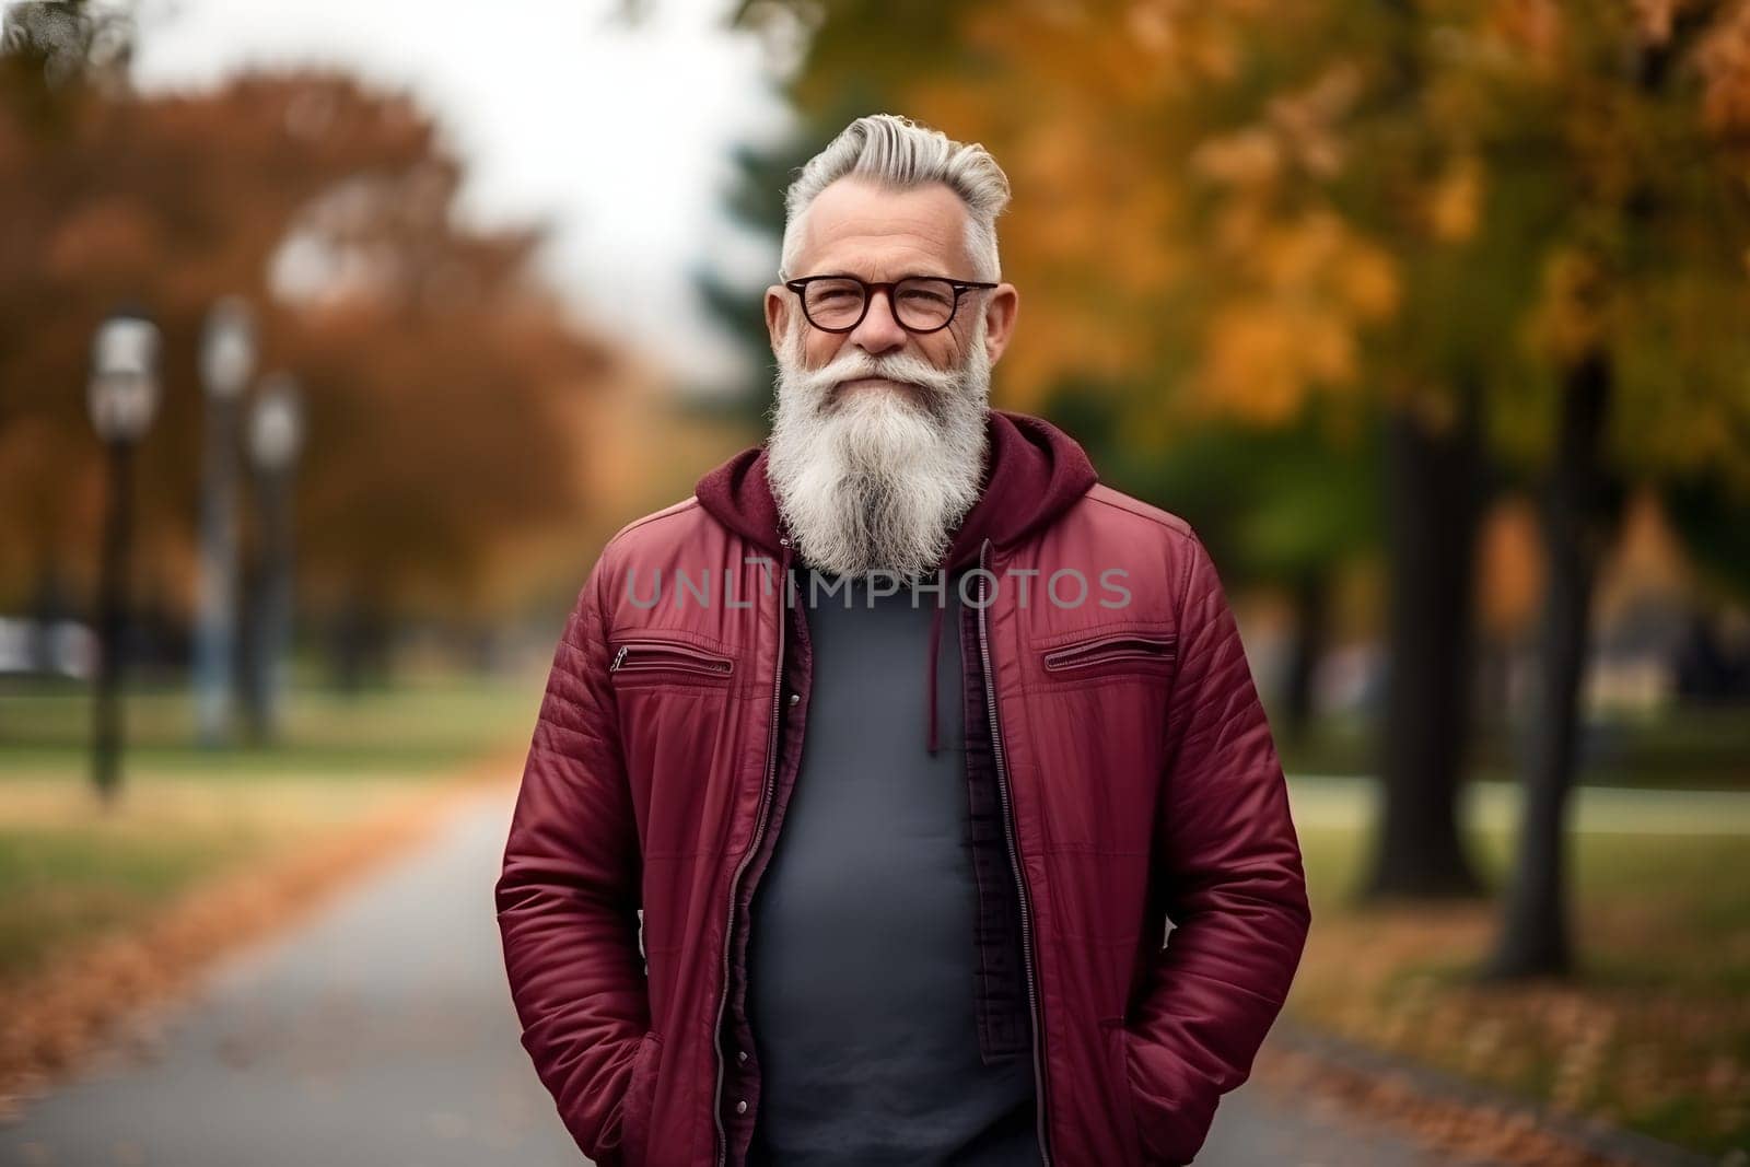
[[[1488,971],[1568,973],[1564,814],[1598,563],[1626,481],[1722,478],[1750,513],[1750,5],[1528,5],[1486,77],[1502,149],[1564,198],[1524,322],[1549,584],[1514,880]]]

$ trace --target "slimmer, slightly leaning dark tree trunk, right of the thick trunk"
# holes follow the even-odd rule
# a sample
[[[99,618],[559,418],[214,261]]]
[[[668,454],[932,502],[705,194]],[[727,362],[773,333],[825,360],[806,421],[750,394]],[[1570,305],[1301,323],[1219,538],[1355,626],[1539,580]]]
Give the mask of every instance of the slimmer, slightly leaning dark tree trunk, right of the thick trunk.
[[[1536,721],[1524,772],[1524,808],[1512,887],[1489,978],[1566,975],[1573,969],[1568,924],[1566,833],[1580,726],[1580,686],[1589,647],[1592,583],[1603,551],[1605,415],[1610,360],[1592,352],[1566,376],[1556,464],[1544,500],[1549,586],[1538,660]]]

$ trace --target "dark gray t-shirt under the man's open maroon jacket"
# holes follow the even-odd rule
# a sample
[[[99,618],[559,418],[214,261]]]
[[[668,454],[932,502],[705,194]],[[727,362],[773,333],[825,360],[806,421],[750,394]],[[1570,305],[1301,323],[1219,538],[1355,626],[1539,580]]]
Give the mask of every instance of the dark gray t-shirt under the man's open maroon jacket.
[[[828,586],[833,591],[828,591]],[[929,590],[796,572],[814,675],[796,786],[751,910],[751,1164],[1038,1164],[1029,1053],[985,1066],[959,595],[943,588],[940,749]],[[849,598],[849,605],[847,605]]]

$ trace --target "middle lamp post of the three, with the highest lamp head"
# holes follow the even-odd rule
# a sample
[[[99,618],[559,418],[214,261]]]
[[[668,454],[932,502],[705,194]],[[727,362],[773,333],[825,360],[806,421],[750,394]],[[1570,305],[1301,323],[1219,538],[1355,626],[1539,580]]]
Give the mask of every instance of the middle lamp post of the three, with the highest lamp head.
[[[248,304],[228,296],[206,315],[201,336],[206,425],[194,623],[194,709],[201,745],[222,745],[231,733],[236,651],[236,415],[238,397],[254,364],[256,325]]]

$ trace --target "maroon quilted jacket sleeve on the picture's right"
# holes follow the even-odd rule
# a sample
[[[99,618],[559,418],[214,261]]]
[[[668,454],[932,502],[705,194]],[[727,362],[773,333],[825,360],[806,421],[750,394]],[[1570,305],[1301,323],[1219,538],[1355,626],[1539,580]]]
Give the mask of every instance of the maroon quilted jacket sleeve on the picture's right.
[[[1153,901],[1174,927],[1127,1024],[1138,1129],[1164,1164],[1192,1162],[1220,1097],[1251,1074],[1311,926],[1288,787],[1239,628],[1195,534],[1186,558],[1153,866]]]

